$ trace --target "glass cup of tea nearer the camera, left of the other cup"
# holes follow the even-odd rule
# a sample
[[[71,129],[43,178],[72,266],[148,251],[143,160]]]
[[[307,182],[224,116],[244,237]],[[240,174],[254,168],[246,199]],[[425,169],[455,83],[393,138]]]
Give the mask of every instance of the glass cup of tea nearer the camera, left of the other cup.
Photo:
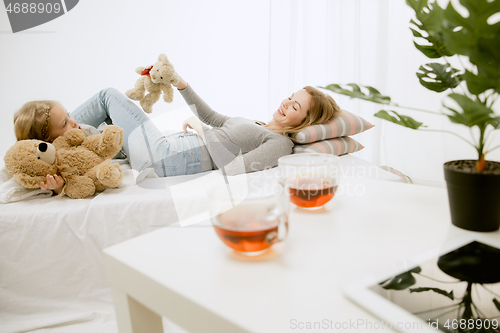
[[[244,196],[214,188],[210,210],[217,236],[246,256],[267,252],[288,233],[289,201],[283,186],[277,182],[252,189]]]

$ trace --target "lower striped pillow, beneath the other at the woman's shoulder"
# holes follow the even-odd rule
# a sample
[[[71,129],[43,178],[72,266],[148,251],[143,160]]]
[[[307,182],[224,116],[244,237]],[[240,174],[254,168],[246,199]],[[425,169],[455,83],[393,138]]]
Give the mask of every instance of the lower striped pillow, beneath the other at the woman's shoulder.
[[[346,136],[343,138],[327,139],[303,145],[295,145],[292,153],[325,153],[340,156],[357,152],[363,148],[365,147],[361,143]]]

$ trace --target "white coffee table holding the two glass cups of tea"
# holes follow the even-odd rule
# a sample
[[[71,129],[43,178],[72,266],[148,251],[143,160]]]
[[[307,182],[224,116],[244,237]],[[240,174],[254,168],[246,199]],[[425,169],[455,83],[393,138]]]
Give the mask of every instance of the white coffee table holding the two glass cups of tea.
[[[286,241],[258,258],[237,255],[207,225],[105,249],[120,332],[163,332],[161,316],[201,333],[380,321],[341,287],[467,231],[452,226],[445,189],[347,177],[342,184],[323,211],[292,210]]]

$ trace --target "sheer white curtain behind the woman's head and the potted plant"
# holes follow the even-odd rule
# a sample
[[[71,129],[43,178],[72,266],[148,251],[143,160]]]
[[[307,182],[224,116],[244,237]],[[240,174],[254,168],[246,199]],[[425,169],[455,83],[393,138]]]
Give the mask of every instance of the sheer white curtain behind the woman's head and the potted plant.
[[[351,82],[374,86],[400,105],[442,109],[443,96],[427,91],[415,75],[431,60],[413,46],[413,12],[404,1],[271,0],[270,6],[270,112],[289,92],[305,85]],[[366,147],[356,156],[396,168],[417,183],[440,186],[445,161],[476,158],[474,149],[455,136],[399,127],[373,117],[381,105],[332,96],[342,108],[376,125],[354,137]],[[450,124],[446,117],[405,112],[429,128],[470,136],[468,129]],[[497,134],[491,147],[498,144]],[[496,151],[488,158],[499,156]]]

